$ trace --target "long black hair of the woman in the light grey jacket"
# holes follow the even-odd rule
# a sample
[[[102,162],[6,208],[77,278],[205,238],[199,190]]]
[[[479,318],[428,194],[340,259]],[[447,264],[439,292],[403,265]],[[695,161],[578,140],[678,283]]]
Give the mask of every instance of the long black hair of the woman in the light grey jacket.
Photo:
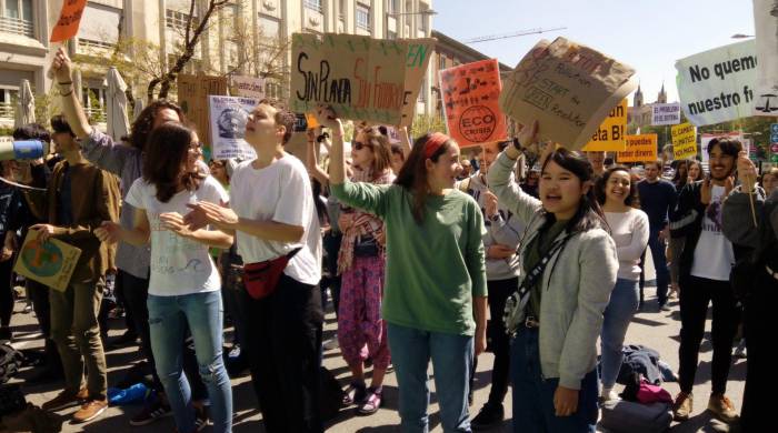
[[[571,172],[580,180],[581,184],[595,180],[595,170],[591,167],[591,162],[579,152],[572,152],[565,148],[555,150],[543,162],[540,170],[541,173],[546,171],[546,167],[548,167],[551,161]],[[556,221],[557,219],[553,213],[546,212],[546,223],[540,230],[551,226]],[[565,231],[568,233],[585,232],[596,228],[602,228],[608,231],[608,223],[605,220],[605,213],[602,213],[600,204],[597,202],[595,185],[592,184],[589,191],[581,197],[578,210],[570,221],[568,221]]]

